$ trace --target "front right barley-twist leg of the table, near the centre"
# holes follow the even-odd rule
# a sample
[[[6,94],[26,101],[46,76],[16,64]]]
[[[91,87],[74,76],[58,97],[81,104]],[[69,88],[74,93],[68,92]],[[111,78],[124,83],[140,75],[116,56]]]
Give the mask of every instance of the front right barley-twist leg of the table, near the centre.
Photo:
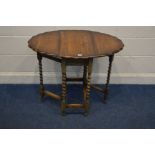
[[[84,96],[84,108],[85,114],[87,115],[89,110],[89,99],[90,99],[90,82],[91,82],[91,74],[92,74],[92,65],[93,59],[89,59],[87,67],[85,67],[85,78],[87,79],[87,83],[85,84],[85,96]]]

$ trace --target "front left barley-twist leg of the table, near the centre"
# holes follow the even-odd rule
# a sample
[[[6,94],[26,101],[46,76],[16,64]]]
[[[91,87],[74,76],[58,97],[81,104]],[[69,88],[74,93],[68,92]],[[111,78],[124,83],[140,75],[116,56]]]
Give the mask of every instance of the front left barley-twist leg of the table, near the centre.
[[[62,61],[62,96],[61,96],[61,112],[64,114],[65,104],[66,104],[66,94],[67,94],[67,77],[66,77],[66,63]]]

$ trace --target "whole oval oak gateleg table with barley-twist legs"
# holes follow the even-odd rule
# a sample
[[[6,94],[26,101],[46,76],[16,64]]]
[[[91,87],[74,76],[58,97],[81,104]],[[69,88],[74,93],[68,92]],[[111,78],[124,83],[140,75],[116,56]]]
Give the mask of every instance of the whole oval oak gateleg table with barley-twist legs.
[[[28,46],[37,52],[40,72],[40,94],[51,96],[61,101],[61,112],[65,114],[65,108],[83,108],[84,114],[88,113],[90,88],[103,92],[104,100],[108,96],[108,85],[114,54],[123,49],[120,39],[100,32],[87,30],[59,30],[38,34],[28,41]],[[107,81],[104,88],[92,85],[91,74],[93,59],[97,57],[109,57]],[[61,63],[62,93],[57,95],[47,91],[43,85],[42,58],[48,58]],[[83,66],[83,77],[67,77],[66,67],[69,65]],[[66,103],[67,81],[83,82],[83,103]]]

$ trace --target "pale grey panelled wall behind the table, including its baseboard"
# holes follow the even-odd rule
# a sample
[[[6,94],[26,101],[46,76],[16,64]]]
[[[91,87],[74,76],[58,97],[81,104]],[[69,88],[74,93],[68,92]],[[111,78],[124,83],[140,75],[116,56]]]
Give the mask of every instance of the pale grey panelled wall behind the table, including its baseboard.
[[[155,27],[0,27],[0,83],[38,83],[35,53],[27,47],[37,33],[58,29],[89,29],[109,33],[123,40],[125,48],[116,55],[111,83],[155,83]],[[60,64],[43,60],[45,83],[61,81]],[[104,83],[108,59],[95,59],[94,83]],[[69,67],[77,75],[79,67]]]

